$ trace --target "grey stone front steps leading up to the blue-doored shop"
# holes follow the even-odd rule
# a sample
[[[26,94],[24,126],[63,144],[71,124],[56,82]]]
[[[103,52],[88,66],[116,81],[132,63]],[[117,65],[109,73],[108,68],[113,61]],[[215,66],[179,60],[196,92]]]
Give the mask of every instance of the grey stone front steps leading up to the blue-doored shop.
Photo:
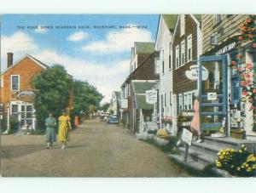
[[[178,147],[178,154],[170,154],[169,156],[176,162],[184,166],[190,167],[195,171],[204,171],[210,164],[215,164],[218,158],[218,151],[222,149],[239,150],[241,145],[246,145],[247,150],[256,152],[256,141],[248,139],[234,139],[234,138],[212,138],[205,137],[202,143],[192,142],[189,147],[188,161],[184,162],[185,147]],[[213,168],[212,173],[217,176],[231,177],[229,173]]]

